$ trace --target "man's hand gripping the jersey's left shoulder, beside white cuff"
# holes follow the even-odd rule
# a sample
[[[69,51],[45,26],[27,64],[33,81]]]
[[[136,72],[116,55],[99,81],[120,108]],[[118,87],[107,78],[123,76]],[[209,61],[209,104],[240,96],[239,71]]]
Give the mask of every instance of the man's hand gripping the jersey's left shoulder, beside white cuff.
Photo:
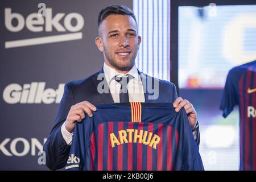
[[[88,101],[83,101],[71,106],[68,117],[65,121],[65,128],[72,133],[75,128],[75,122],[81,122],[85,118],[85,113],[92,117],[92,111],[96,111],[96,107]]]

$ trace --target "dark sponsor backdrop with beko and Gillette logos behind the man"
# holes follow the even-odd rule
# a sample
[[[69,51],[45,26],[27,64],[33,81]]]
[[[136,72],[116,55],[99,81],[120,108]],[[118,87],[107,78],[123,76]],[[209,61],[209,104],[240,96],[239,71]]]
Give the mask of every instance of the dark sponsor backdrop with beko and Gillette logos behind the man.
[[[38,11],[46,5],[46,16]],[[43,142],[65,82],[101,69],[98,12],[133,1],[0,2],[0,169],[44,170]],[[44,11],[39,11],[44,14]]]

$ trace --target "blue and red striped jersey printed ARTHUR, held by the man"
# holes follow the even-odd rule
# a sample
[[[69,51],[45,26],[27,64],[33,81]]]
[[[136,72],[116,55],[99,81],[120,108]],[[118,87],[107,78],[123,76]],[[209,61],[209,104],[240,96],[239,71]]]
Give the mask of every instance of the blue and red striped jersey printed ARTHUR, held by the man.
[[[68,170],[203,170],[184,109],[170,103],[97,105],[76,123]]]

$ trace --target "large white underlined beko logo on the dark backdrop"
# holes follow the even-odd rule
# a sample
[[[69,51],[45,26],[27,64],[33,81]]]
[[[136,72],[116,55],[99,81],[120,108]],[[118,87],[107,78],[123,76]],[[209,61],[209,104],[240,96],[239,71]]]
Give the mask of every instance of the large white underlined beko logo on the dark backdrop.
[[[13,24],[13,20],[16,24]],[[64,20],[64,24],[60,20]],[[72,24],[72,20],[76,24]],[[5,8],[5,27],[10,32],[19,32],[24,27],[31,32],[51,32],[55,28],[58,32],[75,32],[71,34],[44,36],[40,38],[11,40],[5,42],[5,48],[33,46],[38,44],[47,44],[55,42],[64,42],[69,40],[82,39],[82,32],[79,32],[84,27],[84,18],[79,13],[57,13],[53,16],[52,8],[46,8],[46,16],[39,16],[38,13],[31,13],[24,18],[22,14],[15,13],[11,8]]]

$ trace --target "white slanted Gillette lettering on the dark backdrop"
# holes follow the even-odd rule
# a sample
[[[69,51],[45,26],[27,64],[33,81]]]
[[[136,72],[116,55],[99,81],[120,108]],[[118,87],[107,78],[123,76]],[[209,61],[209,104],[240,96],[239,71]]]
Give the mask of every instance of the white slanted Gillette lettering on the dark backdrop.
[[[59,84],[55,89],[45,89],[46,82],[31,82],[31,84],[7,85],[3,90],[3,100],[8,104],[56,104],[60,103],[63,96],[64,85]]]

